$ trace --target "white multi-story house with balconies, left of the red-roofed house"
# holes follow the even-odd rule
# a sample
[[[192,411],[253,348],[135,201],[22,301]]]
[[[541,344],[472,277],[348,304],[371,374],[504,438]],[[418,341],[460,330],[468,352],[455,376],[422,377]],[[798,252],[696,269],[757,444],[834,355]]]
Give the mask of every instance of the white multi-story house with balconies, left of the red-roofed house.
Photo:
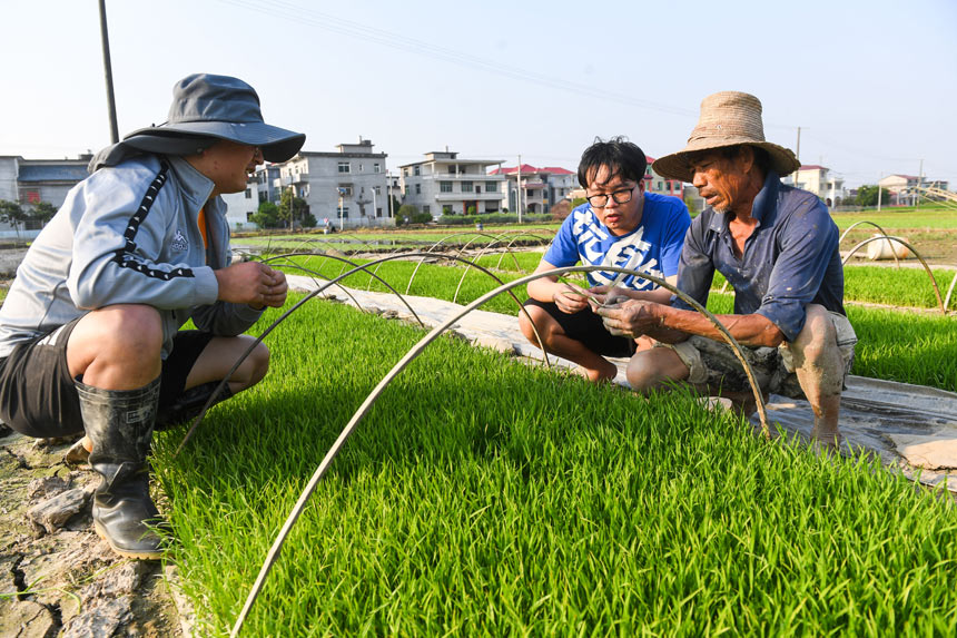
[[[461,159],[450,150],[426,153],[425,160],[398,167],[402,203],[434,218],[497,213],[505,197],[505,178],[489,174],[489,167],[501,165],[501,159]]]

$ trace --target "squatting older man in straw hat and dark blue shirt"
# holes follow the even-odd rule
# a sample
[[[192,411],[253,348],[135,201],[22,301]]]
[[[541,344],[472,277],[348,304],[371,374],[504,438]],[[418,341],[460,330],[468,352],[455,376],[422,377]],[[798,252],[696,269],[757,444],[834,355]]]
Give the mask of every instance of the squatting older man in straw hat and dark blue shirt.
[[[799,166],[791,150],[764,139],[758,98],[737,91],[704,98],[684,149],[653,165],[693,184],[708,204],[685,237],[679,289],[704,304],[714,271],[728,279],[734,314],[718,318],[747,346],[762,392],[806,397],[813,438],[837,449],[857,337],[843,310],[837,226],[815,195],[781,183]],[[612,334],[659,342],[629,365],[635,390],[685,382],[753,411],[730,346],[681,300],[670,306],[631,300],[598,312]]]

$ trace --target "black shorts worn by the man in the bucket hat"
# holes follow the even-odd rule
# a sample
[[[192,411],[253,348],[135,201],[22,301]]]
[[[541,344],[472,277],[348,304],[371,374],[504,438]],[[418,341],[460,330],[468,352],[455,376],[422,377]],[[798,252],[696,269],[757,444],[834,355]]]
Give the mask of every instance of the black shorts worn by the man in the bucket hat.
[[[77,386],[67,366],[67,342],[79,318],[31,342],[18,344],[0,360],[0,420],[28,436],[67,436],[83,431]],[[180,331],[162,362],[159,404],[175,401],[213,335]]]

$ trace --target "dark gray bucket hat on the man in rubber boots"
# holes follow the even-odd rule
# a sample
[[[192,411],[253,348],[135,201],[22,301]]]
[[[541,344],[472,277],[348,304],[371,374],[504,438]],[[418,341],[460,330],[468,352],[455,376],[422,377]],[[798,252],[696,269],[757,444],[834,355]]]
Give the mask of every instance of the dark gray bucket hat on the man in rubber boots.
[[[299,151],[306,136],[266,124],[259,96],[243,80],[194,73],[172,87],[167,120],[132,131],[124,144],[149,153],[186,155],[216,139],[258,146],[268,161],[285,161]]]

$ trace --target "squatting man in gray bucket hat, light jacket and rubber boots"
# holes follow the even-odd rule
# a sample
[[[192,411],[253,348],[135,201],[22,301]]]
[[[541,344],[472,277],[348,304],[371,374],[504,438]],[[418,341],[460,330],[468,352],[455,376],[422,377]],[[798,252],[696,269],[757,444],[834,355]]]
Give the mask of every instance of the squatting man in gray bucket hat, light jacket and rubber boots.
[[[17,271],[0,310],[0,419],[30,436],[86,433],[102,478],[93,523],[122,556],[161,553],[154,429],[195,416],[251,343],[241,333],[286,300],[283,273],[231,264],[219,195],[304,141],[265,124],[246,82],[191,75],[166,122],[97,154]],[[179,331],[189,318],[198,330]],[[259,344],[217,400],[258,383],[268,361]]]

